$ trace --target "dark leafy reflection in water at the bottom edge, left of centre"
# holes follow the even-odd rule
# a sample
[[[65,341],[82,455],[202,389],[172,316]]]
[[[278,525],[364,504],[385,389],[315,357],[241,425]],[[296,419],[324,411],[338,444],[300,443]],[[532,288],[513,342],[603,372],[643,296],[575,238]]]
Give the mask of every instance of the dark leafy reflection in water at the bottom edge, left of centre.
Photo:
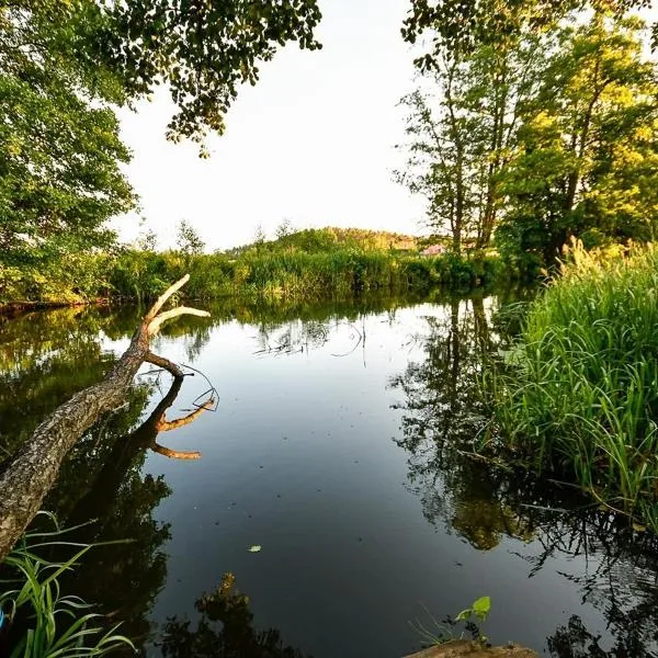
[[[170,619],[164,626],[166,658],[304,658],[287,646],[275,628],[257,631],[249,599],[235,589],[235,577],[225,574],[212,594],[196,601],[201,619],[196,628],[189,621]],[[310,657],[309,657],[310,658]]]

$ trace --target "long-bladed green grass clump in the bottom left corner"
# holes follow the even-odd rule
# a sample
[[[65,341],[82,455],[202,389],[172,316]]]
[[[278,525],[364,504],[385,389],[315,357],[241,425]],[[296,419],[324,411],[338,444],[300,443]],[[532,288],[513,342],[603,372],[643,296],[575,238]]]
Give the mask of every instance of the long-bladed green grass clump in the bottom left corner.
[[[55,530],[25,533],[21,544],[5,558],[11,577],[2,580],[11,587],[0,594],[4,624],[20,623],[26,631],[12,647],[11,658],[65,658],[105,656],[133,643],[116,634],[118,624],[106,629],[102,615],[90,610],[80,598],[63,594],[59,577],[75,568],[76,563],[92,547],[60,540],[75,529],[63,530],[53,514],[41,512]],[[70,547],[76,553],[66,561],[49,561],[37,554],[54,547]]]

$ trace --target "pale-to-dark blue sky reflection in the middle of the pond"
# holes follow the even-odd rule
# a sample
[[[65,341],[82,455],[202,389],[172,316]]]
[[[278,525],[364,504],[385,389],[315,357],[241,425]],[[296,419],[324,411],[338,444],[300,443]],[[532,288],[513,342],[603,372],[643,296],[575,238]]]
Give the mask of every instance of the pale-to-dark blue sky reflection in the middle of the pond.
[[[151,453],[145,467],[163,473],[173,490],[156,511],[172,523],[172,540],[155,621],[193,616],[194,600],[232,571],[257,626],[279,628],[315,658],[404,655],[419,646],[409,622],[427,624],[426,609],[443,620],[484,594],[492,599],[495,642],[541,649],[571,614],[604,632],[580,588],[556,576],[582,576],[582,559],[557,555],[529,578],[532,564],[520,556],[538,555],[536,541],[503,537],[478,552],[454,530],[430,524],[408,490],[408,454],[392,440],[401,435],[402,411],[392,406],[402,392],[389,382],[423,358],[410,340],[427,333],[422,318],[446,313],[421,305],[356,320],[365,343],[342,358],[332,354],[349,352],[356,336],[348,322],[328,322],[320,347],[276,356],[256,354],[256,326],[211,330],[192,365],[217,388],[218,410],[161,438],[203,458]],[[185,338],[161,337],[156,351],[188,360]],[[202,377],[188,378],[168,417],[206,388]],[[262,552],[249,553],[252,544]]]

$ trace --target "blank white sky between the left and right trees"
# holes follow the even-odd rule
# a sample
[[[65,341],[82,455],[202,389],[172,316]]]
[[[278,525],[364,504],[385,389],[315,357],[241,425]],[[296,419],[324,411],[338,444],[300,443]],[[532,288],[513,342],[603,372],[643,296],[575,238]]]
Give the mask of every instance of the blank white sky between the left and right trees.
[[[173,105],[164,90],[120,112],[133,151],[128,180],[140,211],[116,222],[124,240],[154,229],[175,243],[189,222],[206,250],[295,228],[341,226],[418,234],[423,202],[393,181],[404,164],[399,99],[413,89],[412,53],[400,36],[409,0],[319,0],[321,50],[290,44],[243,87],[227,129],[198,146],[164,138]],[[139,217],[145,217],[140,226]]]

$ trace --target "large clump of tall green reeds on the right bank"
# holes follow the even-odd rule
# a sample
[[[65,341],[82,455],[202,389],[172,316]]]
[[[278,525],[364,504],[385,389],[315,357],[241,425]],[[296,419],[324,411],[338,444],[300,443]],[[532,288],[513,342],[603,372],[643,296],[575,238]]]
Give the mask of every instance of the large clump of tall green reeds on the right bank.
[[[490,382],[503,441],[658,531],[657,356],[658,248],[575,246]]]

